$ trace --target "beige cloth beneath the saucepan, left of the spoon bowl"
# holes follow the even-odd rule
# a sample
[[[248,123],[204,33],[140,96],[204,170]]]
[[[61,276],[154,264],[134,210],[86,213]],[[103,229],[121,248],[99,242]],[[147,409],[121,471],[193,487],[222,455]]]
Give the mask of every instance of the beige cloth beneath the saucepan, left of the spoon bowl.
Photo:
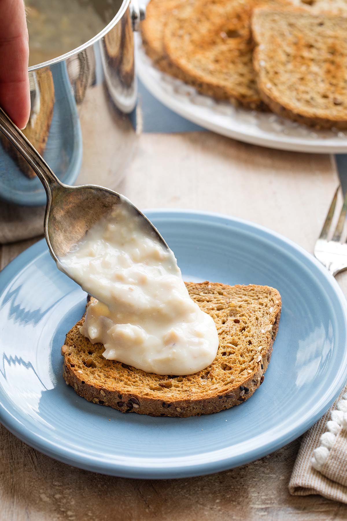
[[[0,244],[43,234],[44,206],[20,206],[0,200]]]

